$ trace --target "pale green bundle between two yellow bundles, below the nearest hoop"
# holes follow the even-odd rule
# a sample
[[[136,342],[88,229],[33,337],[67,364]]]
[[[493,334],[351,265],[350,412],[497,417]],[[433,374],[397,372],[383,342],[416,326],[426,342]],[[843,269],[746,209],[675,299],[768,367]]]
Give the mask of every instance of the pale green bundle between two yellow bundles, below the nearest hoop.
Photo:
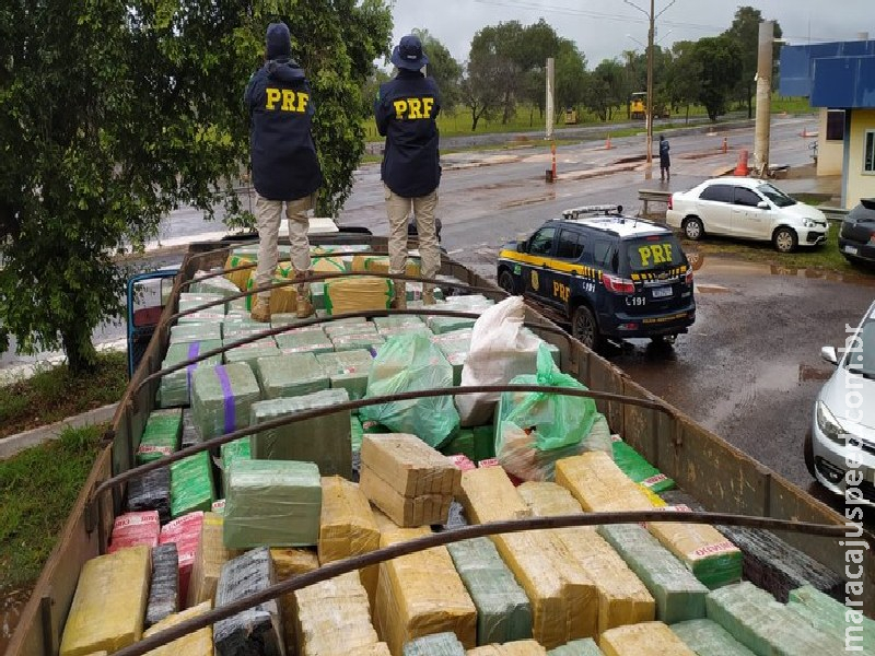
[[[532,605],[489,538],[446,546],[477,607],[477,644],[532,637]]]

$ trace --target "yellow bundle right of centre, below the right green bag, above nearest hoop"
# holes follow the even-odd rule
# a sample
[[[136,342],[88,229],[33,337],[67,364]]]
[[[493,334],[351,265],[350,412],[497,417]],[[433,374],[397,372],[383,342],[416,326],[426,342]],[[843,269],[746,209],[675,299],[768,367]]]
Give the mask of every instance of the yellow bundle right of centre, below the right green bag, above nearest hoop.
[[[556,482],[588,513],[649,511],[646,494],[604,452],[588,452],[556,464]]]

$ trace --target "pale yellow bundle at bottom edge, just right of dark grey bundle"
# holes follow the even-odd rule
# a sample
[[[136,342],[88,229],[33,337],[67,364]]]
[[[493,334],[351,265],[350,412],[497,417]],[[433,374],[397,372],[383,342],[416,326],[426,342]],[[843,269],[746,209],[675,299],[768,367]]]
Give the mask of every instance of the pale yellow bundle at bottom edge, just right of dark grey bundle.
[[[359,654],[378,642],[355,572],[298,590],[294,600],[298,656]]]

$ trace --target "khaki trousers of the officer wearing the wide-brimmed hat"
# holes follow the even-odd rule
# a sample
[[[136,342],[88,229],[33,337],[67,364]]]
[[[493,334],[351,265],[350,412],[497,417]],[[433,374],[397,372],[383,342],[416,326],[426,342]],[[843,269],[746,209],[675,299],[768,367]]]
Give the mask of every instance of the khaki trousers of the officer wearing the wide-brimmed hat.
[[[407,266],[407,220],[410,211],[417,219],[419,254],[422,258],[422,277],[434,278],[441,269],[441,246],[434,226],[434,211],[438,209],[438,190],[428,196],[405,198],[384,185],[386,213],[389,218],[389,273],[404,274]],[[430,292],[433,284],[423,284],[422,291]]]

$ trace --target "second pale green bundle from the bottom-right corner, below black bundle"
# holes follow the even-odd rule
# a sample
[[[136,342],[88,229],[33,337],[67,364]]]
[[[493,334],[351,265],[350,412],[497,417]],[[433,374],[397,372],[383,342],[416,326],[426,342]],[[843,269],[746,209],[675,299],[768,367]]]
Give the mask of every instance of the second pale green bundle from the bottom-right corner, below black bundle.
[[[747,581],[712,590],[708,619],[757,655],[842,654],[844,641],[817,631],[807,620]]]

